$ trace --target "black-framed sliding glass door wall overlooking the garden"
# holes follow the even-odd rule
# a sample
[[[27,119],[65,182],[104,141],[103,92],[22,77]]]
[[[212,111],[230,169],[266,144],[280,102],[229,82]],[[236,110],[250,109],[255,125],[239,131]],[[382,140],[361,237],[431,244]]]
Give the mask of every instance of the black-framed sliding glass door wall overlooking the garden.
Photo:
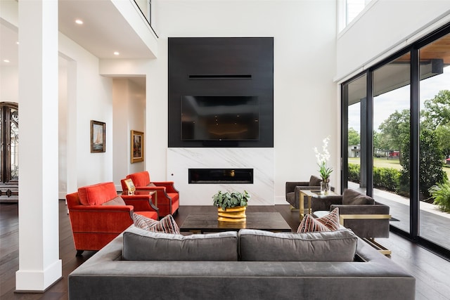
[[[450,257],[450,24],[342,84],[342,186]]]

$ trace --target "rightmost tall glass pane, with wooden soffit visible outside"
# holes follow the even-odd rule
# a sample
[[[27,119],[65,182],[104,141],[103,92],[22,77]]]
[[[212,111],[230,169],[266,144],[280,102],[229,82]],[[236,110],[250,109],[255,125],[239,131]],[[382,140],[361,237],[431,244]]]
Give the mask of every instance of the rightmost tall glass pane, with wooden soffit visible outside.
[[[420,48],[419,59],[419,235],[450,249],[450,34]]]

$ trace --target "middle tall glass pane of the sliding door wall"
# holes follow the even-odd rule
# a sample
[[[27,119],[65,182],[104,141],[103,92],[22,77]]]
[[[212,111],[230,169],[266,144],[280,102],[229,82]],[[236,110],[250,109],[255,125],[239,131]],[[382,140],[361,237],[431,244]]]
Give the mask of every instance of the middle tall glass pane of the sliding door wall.
[[[373,197],[409,232],[410,53],[373,72]]]

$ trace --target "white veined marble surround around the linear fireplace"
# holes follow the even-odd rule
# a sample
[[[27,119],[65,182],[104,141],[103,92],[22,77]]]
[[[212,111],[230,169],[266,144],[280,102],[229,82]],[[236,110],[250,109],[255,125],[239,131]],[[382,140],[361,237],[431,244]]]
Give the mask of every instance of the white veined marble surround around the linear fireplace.
[[[189,184],[188,169],[253,169],[253,183]],[[212,205],[218,190],[247,190],[249,205],[274,205],[274,148],[168,148],[167,180],[182,205]]]

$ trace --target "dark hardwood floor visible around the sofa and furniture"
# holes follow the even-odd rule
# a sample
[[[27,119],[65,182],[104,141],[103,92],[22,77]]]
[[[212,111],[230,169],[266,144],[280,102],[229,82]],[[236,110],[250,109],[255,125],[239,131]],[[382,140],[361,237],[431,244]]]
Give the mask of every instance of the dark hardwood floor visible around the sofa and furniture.
[[[175,220],[181,225],[190,213],[215,211],[214,207],[180,207]],[[293,228],[299,225],[298,211],[290,211],[288,205],[274,207],[250,206],[248,211],[278,211]],[[15,272],[18,261],[18,204],[0,204],[0,299],[68,299],[68,275],[94,252],[84,252],[82,257],[75,256],[72,230],[65,202],[59,202],[60,259],[63,261],[63,278],[41,294],[15,293]],[[378,242],[392,250],[391,259],[416,277],[416,299],[450,299],[450,262],[428,250],[399,237],[394,233]]]

